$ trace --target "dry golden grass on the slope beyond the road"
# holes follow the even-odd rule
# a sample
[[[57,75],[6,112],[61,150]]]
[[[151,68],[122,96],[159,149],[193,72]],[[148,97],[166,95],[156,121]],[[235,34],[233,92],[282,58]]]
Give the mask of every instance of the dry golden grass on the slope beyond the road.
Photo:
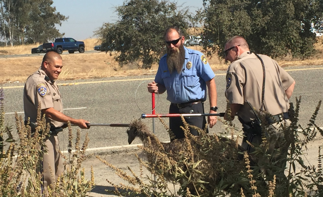
[[[318,50],[318,53],[315,57],[311,57],[303,61],[291,59],[290,57],[284,57],[281,59],[277,59],[278,63],[282,67],[322,65],[323,39],[318,39],[319,41],[315,45],[316,49]],[[87,39],[84,42],[87,47],[87,50],[91,50],[89,49],[90,47],[93,48],[95,45],[98,44],[97,39],[95,38]],[[1,47],[0,50],[3,50],[3,48],[4,47]],[[13,51],[23,51],[22,47],[19,46],[13,48]],[[199,46],[189,48],[201,50]],[[138,69],[136,64],[127,65],[120,68],[118,63],[113,58],[115,56],[115,53],[112,53],[112,56],[110,56],[105,52],[62,54],[64,68],[59,78],[67,80],[79,78],[103,78],[111,76],[148,75],[155,74],[155,72],[157,71],[157,65],[153,65],[150,70]],[[26,78],[40,67],[42,58],[42,56],[0,58],[0,83],[5,83],[8,81],[26,81]],[[208,61],[214,71],[226,70],[229,65],[228,63],[225,63],[223,59],[219,60],[216,56],[213,56],[212,58],[208,57]]]

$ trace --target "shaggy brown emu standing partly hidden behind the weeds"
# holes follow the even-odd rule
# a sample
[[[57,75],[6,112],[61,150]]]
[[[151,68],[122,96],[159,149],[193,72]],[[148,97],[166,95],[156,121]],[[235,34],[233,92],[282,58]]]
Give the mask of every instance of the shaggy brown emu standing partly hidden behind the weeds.
[[[131,142],[135,139],[135,138],[139,138],[142,143],[143,143],[143,147],[150,147],[151,149],[155,150],[155,151],[160,151],[163,152],[163,150],[161,150],[160,145],[158,145],[157,143],[157,137],[152,134],[147,125],[144,124],[141,120],[134,120],[130,123],[130,128],[127,130],[127,134],[128,134],[128,142],[129,144],[131,144]],[[204,135],[205,136],[205,135]],[[215,138],[215,136],[212,135],[206,135],[206,137],[209,138]],[[201,153],[202,151],[202,147],[200,143],[196,143],[197,140],[201,139],[201,136],[196,136],[193,137],[196,138],[195,140],[190,140],[193,152],[194,152],[194,163],[201,161],[200,164],[196,167],[196,169],[198,171],[203,172],[203,174],[200,173],[195,173],[194,174],[194,178],[195,180],[203,180],[203,181],[207,181],[210,182],[210,184],[208,184],[207,186],[212,187],[212,184],[217,184],[219,183],[219,181],[221,181],[221,177],[218,176],[218,173],[216,172],[216,170],[213,168],[214,165],[216,165],[216,161],[213,161],[212,158],[207,158],[207,157],[203,157],[204,155]],[[227,138],[224,137],[219,137],[219,140],[221,141],[228,141]],[[164,152],[168,153],[168,158],[172,158],[175,161],[179,161],[179,157],[180,157],[180,152],[181,151],[187,151],[187,142],[184,139],[180,139],[180,140],[173,140],[171,142],[165,143],[165,142],[160,142],[163,149],[165,150]],[[151,146],[150,146],[151,144]],[[238,147],[239,150],[242,150],[241,147]],[[221,151],[217,151],[217,150],[213,150],[215,152],[221,152]],[[196,154],[195,154],[196,153]],[[235,155],[231,155],[228,154],[226,151],[224,151],[223,153],[219,153],[222,154],[221,156],[224,156],[227,159],[234,159],[237,160],[237,156]],[[155,166],[155,168],[159,168],[159,164],[161,164],[161,162],[163,162],[163,160],[161,160],[160,158],[158,158],[156,156],[156,154],[154,153],[149,153],[147,152],[146,154],[147,160],[149,162],[149,164],[152,166]],[[203,157],[203,158],[202,158]],[[233,158],[236,157],[236,158]],[[221,162],[221,161],[220,161]],[[179,166],[182,169],[184,169],[184,166]],[[172,170],[175,170],[174,167],[172,168]],[[165,177],[165,179],[167,181],[173,181],[173,176],[169,171],[164,171],[163,172],[163,176]],[[192,186],[188,186],[190,188],[191,191],[193,191],[193,187]],[[229,187],[229,186],[228,186]],[[229,189],[229,188],[227,188]]]

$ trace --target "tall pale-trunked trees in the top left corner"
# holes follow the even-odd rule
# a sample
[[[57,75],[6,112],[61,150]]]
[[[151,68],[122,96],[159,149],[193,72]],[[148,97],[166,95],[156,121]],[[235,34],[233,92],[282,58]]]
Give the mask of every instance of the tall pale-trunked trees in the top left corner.
[[[0,36],[10,45],[47,42],[61,34],[55,25],[68,17],[56,12],[52,0],[0,0]]]

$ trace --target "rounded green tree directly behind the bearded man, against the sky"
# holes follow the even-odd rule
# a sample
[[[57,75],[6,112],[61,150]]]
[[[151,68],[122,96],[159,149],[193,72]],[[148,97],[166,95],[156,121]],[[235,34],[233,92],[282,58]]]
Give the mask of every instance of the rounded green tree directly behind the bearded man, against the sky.
[[[166,28],[179,26],[186,33],[193,25],[188,8],[168,0],[126,0],[116,12],[119,20],[103,24],[95,34],[103,47],[120,51],[115,57],[120,66],[142,61],[142,68],[150,68],[165,52]]]

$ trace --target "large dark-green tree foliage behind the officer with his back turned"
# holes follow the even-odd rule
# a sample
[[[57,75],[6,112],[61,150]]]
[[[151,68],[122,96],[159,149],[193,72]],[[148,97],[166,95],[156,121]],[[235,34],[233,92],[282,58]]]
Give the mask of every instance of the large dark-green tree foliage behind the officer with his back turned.
[[[210,55],[240,35],[256,53],[306,58],[315,53],[313,30],[322,31],[321,0],[203,0],[203,42]]]

